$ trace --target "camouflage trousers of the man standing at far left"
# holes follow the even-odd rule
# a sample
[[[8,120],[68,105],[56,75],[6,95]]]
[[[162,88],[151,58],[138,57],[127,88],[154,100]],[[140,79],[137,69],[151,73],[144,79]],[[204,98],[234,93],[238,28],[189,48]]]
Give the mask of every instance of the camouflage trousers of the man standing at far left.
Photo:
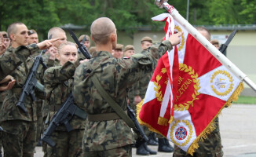
[[[2,122],[2,145],[8,157],[34,156],[36,122],[10,120]]]

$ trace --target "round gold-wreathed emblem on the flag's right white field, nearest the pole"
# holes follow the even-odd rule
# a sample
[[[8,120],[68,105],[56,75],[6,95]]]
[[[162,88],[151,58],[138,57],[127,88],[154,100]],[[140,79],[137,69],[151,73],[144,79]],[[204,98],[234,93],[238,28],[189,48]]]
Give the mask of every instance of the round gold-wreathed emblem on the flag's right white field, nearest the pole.
[[[218,96],[224,97],[233,89],[232,75],[228,71],[215,71],[210,78],[210,87]]]

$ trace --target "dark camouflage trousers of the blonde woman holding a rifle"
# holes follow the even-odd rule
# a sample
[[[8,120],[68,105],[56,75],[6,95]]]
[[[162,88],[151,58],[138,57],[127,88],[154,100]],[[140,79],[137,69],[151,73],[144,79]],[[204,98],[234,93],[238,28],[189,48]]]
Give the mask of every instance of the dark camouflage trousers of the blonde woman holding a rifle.
[[[52,134],[53,141],[57,144],[54,148],[47,145],[48,157],[80,157],[82,156],[82,137],[84,130],[60,131]]]

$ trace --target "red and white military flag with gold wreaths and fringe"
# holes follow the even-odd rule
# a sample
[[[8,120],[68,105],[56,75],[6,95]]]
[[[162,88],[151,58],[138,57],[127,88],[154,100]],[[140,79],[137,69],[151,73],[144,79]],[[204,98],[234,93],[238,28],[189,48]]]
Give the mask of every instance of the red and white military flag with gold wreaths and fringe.
[[[243,90],[243,82],[232,75],[185,27],[171,19],[169,13],[152,19],[166,20],[168,30],[174,26],[175,31],[183,31],[184,34],[176,48],[178,68],[169,60],[168,64],[173,67],[169,68],[172,71],[166,71],[170,74],[166,76],[168,81],[164,80],[166,73],[158,67],[161,69],[161,64],[166,64],[166,60],[162,59],[165,55],[160,58],[144,101],[138,105],[137,119],[141,125],[148,126],[149,130],[162,134],[192,154],[198,148],[198,142],[214,130],[214,119],[221,110],[237,100]],[[166,92],[169,90],[171,92]]]

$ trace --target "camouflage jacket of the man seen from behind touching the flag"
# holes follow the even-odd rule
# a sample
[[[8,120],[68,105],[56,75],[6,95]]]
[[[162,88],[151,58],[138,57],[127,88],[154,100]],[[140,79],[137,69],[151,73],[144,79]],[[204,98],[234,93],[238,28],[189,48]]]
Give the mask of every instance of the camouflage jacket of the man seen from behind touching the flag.
[[[128,88],[154,70],[156,62],[167,49],[172,49],[169,41],[161,42],[130,58],[115,59],[111,53],[94,52],[92,58],[75,71],[73,93],[76,104],[89,115],[115,112],[98,93],[90,77],[96,75],[103,88],[126,111]],[[100,115],[101,116],[101,115]],[[104,151],[133,144],[133,133],[123,119],[89,122],[83,137],[86,152]]]

